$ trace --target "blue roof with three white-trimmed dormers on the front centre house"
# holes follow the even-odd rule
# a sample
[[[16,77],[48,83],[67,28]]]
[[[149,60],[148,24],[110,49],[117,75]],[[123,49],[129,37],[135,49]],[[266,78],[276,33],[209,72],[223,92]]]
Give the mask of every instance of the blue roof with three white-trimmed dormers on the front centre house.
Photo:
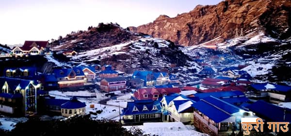
[[[144,106],[146,106],[148,110],[143,110]],[[154,106],[156,106],[157,110],[153,108]],[[138,111],[133,111],[134,107],[136,107]],[[159,101],[139,100],[134,102],[128,102],[127,107],[123,109],[123,115],[137,115],[150,113],[162,113],[162,108]]]

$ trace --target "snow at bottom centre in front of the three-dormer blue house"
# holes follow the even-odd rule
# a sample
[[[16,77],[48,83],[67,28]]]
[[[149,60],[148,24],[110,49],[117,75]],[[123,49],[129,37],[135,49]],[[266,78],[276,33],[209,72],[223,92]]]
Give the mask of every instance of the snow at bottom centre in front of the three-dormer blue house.
[[[132,126],[123,126],[124,128],[130,130]],[[144,125],[135,126],[143,130],[149,135],[158,136],[209,136],[193,130],[194,127],[185,126],[182,122],[154,122],[154,123],[144,123]]]

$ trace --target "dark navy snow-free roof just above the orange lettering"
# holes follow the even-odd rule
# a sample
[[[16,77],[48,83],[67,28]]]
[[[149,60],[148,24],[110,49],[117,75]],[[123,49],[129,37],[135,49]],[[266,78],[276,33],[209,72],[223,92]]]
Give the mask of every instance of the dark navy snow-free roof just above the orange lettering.
[[[259,100],[248,106],[249,110],[259,114],[265,118],[271,119],[272,121],[278,122],[291,122],[291,109],[286,108],[285,120],[284,120],[284,108],[276,106],[268,102]],[[275,111],[275,112],[274,112]]]

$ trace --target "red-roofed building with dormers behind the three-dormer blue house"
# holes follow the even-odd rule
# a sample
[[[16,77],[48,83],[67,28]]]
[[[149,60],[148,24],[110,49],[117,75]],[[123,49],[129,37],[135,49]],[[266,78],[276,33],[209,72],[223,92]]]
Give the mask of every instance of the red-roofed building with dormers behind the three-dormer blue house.
[[[134,100],[157,100],[158,98],[180,93],[181,90],[177,87],[175,88],[140,88],[133,93]]]

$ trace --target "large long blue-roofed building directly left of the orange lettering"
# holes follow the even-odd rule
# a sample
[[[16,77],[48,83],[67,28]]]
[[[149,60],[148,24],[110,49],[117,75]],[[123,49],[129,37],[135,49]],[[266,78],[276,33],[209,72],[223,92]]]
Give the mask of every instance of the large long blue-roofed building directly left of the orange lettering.
[[[205,97],[192,104],[194,107],[194,126],[211,136],[228,131],[240,131],[241,118],[253,116],[252,112],[213,96]],[[232,128],[231,126],[234,125]]]

